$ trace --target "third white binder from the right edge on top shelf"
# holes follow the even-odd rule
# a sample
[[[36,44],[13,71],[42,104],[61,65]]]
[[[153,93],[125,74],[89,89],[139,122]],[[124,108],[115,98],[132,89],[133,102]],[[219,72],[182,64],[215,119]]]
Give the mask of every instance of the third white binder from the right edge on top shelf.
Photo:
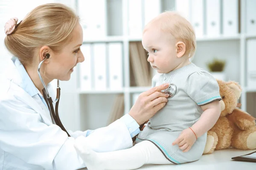
[[[221,32],[221,2],[206,0],[206,32],[208,36],[218,36]]]

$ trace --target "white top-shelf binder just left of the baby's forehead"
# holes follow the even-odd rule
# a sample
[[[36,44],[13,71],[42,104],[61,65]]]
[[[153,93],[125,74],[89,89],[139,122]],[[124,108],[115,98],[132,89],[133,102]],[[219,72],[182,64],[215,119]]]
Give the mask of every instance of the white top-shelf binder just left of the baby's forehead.
[[[128,0],[128,27],[130,36],[142,34],[142,0]]]

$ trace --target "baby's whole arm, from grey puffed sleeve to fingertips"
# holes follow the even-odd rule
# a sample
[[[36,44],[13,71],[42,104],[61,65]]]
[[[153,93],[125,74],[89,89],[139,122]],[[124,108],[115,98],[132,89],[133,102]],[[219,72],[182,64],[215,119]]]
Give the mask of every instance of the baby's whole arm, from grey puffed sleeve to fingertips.
[[[192,127],[183,130],[172,143],[177,144],[183,152],[189,151],[196,139],[214,126],[221,113],[218,82],[207,71],[197,71],[188,77],[186,93],[201,107],[203,113]]]

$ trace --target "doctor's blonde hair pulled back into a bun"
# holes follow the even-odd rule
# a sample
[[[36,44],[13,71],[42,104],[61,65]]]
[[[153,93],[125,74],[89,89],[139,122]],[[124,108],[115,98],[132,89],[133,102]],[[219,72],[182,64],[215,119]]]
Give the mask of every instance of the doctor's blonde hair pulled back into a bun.
[[[44,4],[27,14],[15,31],[5,37],[4,44],[23,65],[29,65],[44,45],[55,52],[61,51],[71,40],[77,23],[79,17],[71,8],[61,3]]]

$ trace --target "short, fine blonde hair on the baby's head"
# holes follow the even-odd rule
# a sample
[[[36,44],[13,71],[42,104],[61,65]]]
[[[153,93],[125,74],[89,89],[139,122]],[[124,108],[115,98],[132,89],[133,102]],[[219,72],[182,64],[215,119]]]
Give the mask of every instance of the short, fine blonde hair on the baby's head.
[[[186,45],[185,55],[189,58],[195,54],[196,39],[192,25],[174,11],[165,11],[151,20],[144,28],[143,33],[151,26],[160,26],[161,31],[171,34],[176,40]]]

